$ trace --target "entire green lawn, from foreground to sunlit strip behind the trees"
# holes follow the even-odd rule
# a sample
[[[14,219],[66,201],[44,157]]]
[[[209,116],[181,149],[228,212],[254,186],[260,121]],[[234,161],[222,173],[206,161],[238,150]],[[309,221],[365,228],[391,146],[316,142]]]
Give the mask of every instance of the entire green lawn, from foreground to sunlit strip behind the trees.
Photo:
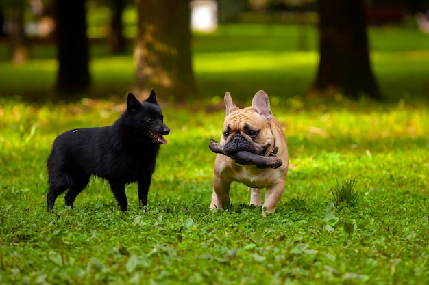
[[[293,27],[245,28],[195,38],[205,104],[164,105],[171,133],[146,213],[136,185],[127,187],[124,214],[97,178],[75,208],[61,195],[55,213],[46,211],[53,139],[116,120],[132,82],[130,55],[94,49],[88,96],[112,100],[67,104],[23,100],[49,98],[56,62],[46,47],[35,47],[37,59],[25,66],[0,62],[0,284],[428,284],[429,38],[371,30],[387,103],[310,102],[314,31],[308,50],[297,51]],[[232,209],[210,211],[208,143],[221,135],[221,98],[228,90],[249,102],[260,89],[289,141],[293,166],[282,201],[264,218],[247,206],[247,187],[234,184]],[[339,203],[339,188],[351,181],[356,198]]]

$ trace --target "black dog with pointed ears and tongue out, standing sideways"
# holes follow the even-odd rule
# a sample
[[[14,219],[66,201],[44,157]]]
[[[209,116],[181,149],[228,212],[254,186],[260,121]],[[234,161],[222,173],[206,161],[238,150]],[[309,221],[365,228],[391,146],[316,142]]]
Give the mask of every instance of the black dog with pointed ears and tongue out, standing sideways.
[[[56,198],[67,189],[66,205],[73,206],[90,176],[108,180],[122,211],[128,207],[125,185],[138,182],[140,208],[145,208],[160,144],[167,144],[162,135],[170,132],[163,119],[154,90],[142,103],[129,93],[127,110],[112,126],[59,135],[47,159],[48,211],[53,211]]]

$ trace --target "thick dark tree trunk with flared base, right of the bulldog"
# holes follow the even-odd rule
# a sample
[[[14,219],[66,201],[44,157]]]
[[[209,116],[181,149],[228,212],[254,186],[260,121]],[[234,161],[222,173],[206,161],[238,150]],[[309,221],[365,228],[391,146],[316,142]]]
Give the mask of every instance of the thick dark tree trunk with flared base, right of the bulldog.
[[[319,55],[310,96],[382,99],[369,61],[363,0],[319,0]]]

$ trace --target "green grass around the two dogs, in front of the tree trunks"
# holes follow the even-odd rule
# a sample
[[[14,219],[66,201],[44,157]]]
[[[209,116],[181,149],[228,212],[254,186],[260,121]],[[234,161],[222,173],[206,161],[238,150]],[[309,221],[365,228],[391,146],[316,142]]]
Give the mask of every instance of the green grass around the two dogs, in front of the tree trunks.
[[[293,103],[296,104],[296,103]],[[425,284],[429,281],[429,109],[273,107],[289,137],[286,191],[274,215],[245,206],[209,211],[210,138],[223,111],[164,107],[171,128],[138,210],[123,214],[100,179],[73,210],[47,213],[45,160],[69,128],[113,122],[124,105],[1,100],[0,282],[3,284]],[[354,178],[362,195],[335,208],[331,189]]]

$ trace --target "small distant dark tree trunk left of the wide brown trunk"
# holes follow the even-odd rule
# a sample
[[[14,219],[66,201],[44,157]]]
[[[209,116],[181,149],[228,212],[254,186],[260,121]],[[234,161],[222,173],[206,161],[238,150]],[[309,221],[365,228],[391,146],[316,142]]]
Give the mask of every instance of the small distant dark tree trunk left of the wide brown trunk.
[[[125,51],[125,38],[122,29],[122,13],[124,0],[111,0],[112,20],[110,22],[110,51],[114,54],[121,54]]]

